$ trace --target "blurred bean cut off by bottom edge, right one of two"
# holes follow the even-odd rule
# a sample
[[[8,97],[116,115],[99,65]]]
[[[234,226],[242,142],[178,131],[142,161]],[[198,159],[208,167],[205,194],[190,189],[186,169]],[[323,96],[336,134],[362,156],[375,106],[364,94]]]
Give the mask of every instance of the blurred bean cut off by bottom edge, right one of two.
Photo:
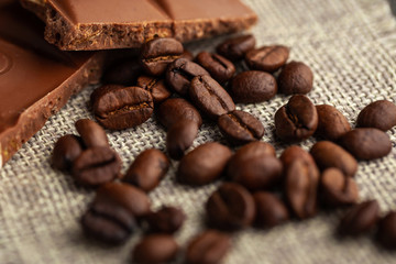
[[[231,238],[217,230],[206,230],[194,238],[186,252],[186,264],[218,264],[231,248]]]

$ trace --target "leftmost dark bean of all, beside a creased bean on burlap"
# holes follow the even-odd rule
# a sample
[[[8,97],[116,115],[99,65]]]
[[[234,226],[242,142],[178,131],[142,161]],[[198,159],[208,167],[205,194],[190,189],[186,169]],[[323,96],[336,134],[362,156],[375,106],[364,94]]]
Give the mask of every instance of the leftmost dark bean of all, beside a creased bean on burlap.
[[[67,134],[58,139],[55,143],[52,165],[59,170],[69,170],[74,161],[81,154],[82,146],[80,140],[73,134]]]

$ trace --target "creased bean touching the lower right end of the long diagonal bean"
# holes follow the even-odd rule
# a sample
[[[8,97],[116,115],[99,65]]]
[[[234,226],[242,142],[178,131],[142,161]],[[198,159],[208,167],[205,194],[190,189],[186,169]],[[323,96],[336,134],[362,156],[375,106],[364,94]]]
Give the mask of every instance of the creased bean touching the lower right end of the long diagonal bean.
[[[235,145],[257,141],[263,138],[265,131],[258,119],[240,110],[220,116],[218,125],[226,139]]]

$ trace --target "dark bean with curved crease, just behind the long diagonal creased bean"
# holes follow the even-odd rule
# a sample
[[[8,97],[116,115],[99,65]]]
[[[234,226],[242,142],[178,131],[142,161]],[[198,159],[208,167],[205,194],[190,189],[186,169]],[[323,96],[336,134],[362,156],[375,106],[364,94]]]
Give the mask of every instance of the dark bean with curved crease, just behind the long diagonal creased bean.
[[[235,74],[235,66],[218,54],[201,52],[197,55],[197,63],[220,84],[228,81]]]

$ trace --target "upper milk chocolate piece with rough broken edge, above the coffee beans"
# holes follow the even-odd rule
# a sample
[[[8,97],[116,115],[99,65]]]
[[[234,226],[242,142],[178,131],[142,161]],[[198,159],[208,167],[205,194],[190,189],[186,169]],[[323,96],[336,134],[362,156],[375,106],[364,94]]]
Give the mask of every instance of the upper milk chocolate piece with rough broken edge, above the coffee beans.
[[[257,20],[240,0],[21,1],[36,10],[46,4],[45,38],[66,51],[139,47],[155,36],[188,42],[242,31]]]

